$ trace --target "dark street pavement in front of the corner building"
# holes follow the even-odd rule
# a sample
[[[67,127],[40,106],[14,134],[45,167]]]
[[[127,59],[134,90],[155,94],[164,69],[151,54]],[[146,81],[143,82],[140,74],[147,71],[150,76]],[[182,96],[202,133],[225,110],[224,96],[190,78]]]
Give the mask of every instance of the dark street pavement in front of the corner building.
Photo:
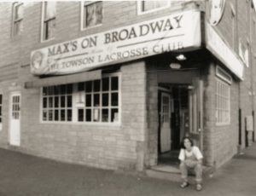
[[[0,196],[254,196],[256,143],[203,183],[182,189],[178,182],[65,164],[0,149]]]

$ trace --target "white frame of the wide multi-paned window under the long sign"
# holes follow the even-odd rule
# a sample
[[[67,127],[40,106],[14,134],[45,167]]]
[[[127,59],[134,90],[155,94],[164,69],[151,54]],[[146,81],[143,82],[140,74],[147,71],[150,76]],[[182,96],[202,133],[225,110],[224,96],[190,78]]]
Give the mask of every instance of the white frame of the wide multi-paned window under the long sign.
[[[120,72],[114,72],[114,73],[108,73],[108,74],[102,74],[102,78],[111,78],[111,77],[118,77],[118,82],[119,82],[119,87],[116,91],[118,91],[118,121],[116,122],[111,122],[111,116],[109,116],[108,118],[110,119],[108,122],[86,122],[86,121],[79,121],[79,117],[78,117],[78,112],[79,112],[79,108],[81,107],[78,107],[76,106],[76,101],[79,99],[79,92],[78,92],[78,85],[79,83],[75,83],[73,84],[73,93],[72,93],[72,120],[71,121],[44,121],[43,120],[43,88],[44,87],[41,87],[40,88],[40,107],[39,107],[39,122],[41,124],[84,124],[84,125],[96,125],[96,126],[99,126],[99,125],[108,125],[108,126],[119,126],[121,125],[121,112],[122,112],[122,109],[121,109],[121,73]],[[100,80],[102,81],[102,78],[100,78]],[[90,80],[91,82],[94,81],[94,80]],[[90,82],[90,81],[84,81],[84,82]],[[102,83],[101,83],[102,84]],[[67,84],[65,84],[67,85]],[[110,85],[110,84],[109,84]],[[108,90],[108,93],[111,93],[111,90]],[[101,89],[99,91],[99,94],[102,95],[102,85],[101,85]],[[84,93],[85,95],[85,93]],[[54,95],[55,96],[55,95]],[[102,108],[102,96],[100,96],[100,108]],[[108,98],[109,99],[109,98]],[[110,101],[110,99],[109,99]],[[111,110],[111,106],[108,106],[109,107],[109,110]],[[85,107],[83,107],[85,108]],[[108,112],[109,113],[109,112]],[[93,114],[93,112],[91,112],[91,114]],[[111,112],[110,112],[110,115],[111,115]],[[102,119],[102,117],[101,117]]]

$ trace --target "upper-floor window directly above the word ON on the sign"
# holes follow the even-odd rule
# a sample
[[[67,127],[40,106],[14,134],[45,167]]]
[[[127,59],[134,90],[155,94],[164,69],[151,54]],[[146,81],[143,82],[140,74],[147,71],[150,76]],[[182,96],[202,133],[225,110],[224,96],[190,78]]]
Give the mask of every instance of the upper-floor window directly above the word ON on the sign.
[[[82,29],[102,24],[102,1],[82,3]]]

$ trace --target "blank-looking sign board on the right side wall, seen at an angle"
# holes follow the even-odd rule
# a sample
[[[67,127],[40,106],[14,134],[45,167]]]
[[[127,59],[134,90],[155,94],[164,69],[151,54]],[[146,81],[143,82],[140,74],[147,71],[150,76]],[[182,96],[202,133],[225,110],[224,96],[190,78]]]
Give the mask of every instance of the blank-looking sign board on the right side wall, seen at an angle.
[[[206,38],[207,49],[217,56],[224,66],[227,66],[238,78],[243,79],[244,66],[239,56],[230,49],[229,45],[224,42],[222,37],[218,35],[218,32],[208,23],[206,24]]]

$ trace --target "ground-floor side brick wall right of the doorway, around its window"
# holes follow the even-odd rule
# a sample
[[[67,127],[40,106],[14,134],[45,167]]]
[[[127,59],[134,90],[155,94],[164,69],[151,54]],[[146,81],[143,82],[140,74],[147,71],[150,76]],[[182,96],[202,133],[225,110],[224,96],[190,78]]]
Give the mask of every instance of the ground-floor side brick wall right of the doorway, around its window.
[[[211,61],[208,68],[203,70],[204,80],[204,156],[206,164],[219,167],[237,153],[238,145],[238,102],[239,83],[233,79],[230,85],[230,124],[216,125],[215,93],[216,93],[216,65],[218,61]],[[226,70],[228,72],[228,70]]]

